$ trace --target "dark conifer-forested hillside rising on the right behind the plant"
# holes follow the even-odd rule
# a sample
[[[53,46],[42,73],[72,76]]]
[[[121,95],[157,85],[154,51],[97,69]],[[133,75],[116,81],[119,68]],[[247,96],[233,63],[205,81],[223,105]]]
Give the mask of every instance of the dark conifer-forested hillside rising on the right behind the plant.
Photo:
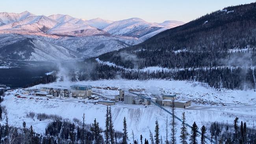
[[[174,70],[132,78],[173,78],[204,81],[216,88],[255,89],[255,29],[256,3],[231,6],[99,59],[125,68]]]

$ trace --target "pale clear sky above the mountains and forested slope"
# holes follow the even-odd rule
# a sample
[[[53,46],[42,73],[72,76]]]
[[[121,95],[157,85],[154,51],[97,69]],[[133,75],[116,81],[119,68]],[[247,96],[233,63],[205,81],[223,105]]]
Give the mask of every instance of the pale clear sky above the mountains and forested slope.
[[[66,14],[76,18],[123,20],[139,17],[147,22],[189,22],[206,13],[255,0],[1,0],[0,12],[35,15]]]

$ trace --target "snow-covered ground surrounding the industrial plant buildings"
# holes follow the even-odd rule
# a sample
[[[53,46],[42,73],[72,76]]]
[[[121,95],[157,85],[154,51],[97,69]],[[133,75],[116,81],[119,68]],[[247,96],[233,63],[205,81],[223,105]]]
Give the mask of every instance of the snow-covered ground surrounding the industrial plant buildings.
[[[208,87],[205,83],[188,82],[188,81],[167,81],[167,80],[99,80],[99,81],[79,81],[79,82],[55,82],[48,86],[65,86],[69,87],[73,84],[92,85],[93,91],[104,95],[117,95],[117,89],[133,89],[141,90],[142,94],[177,94],[178,99],[204,100],[223,103],[246,103],[246,105],[202,105],[192,103],[191,107],[186,109],[176,109],[176,115],[181,118],[182,112],[186,113],[187,123],[192,124],[197,122],[198,127],[202,125],[208,126],[209,122],[224,122],[233,123],[237,116],[239,120],[247,122],[249,127],[252,127],[252,118],[256,118],[256,92],[252,90],[215,90]],[[39,88],[43,85],[37,85],[33,88]],[[105,105],[93,105],[92,103],[84,104],[76,98],[46,99],[41,97],[41,100],[28,98],[17,98],[13,96],[17,92],[13,91],[8,96],[4,97],[1,106],[5,106],[8,112],[11,124],[22,126],[22,122],[26,121],[29,125],[33,125],[35,131],[44,133],[45,127],[49,120],[39,121],[36,118],[26,118],[29,112],[58,114],[63,118],[78,118],[82,120],[82,115],[85,113],[86,123],[90,124],[96,118],[101,127],[104,127],[106,113]],[[127,93],[126,93],[127,94]],[[122,120],[124,116],[127,119],[129,138],[132,138],[132,130],[135,133],[135,139],[139,139],[139,135],[149,138],[149,129],[154,131],[154,122],[158,119],[160,123],[161,135],[165,135],[165,119],[171,116],[160,108],[150,105],[124,105],[122,102],[117,102],[111,106],[113,113],[114,128],[122,131]],[[169,107],[166,107],[170,109]],[[177,122],[177,137],[180,132],[180,122]],[[3,123],[3,122],[2,122]],[[170,122],[169,122],[170,123]],[[169,129],[170,131],[170,129]],[[190,129],[189,129],[190,131]],[[210,133],[210,132],[209,132]]]

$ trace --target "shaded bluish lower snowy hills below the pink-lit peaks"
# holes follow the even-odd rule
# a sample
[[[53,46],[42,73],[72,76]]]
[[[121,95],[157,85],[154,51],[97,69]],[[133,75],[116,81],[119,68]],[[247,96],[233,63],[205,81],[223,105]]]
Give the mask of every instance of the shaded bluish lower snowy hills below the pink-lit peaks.
[[[0,35],[0,57],[26,61],[74,60],[138,44],[130,37],[42,37],[36,35]]]

